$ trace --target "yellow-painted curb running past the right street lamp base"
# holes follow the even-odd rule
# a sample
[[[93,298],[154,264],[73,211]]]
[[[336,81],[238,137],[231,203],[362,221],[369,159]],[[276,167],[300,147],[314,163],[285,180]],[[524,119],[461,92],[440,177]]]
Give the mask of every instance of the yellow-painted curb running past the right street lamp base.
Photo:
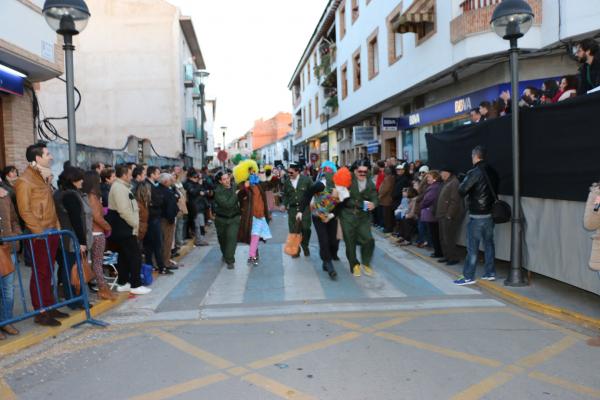
[[[416,257],[421,258],[422,260],[427,261],[429,264],[443,270],[444,272],[450,275],[456,275],[456,272],[443,266],[432,263],[432,259],[430,257],[424,256],[410,248],[405,247],[403,248],[403,250],[409,252],[410,254]],[[512,304],[515,304],[522,308],[526,308],[530,311],[534,311],[536,313],[543,314],[548,317],[556,318],[564,322],[576,323],[585,328],[600,329],[600,319],[592,318],[585,314],[567,310],[565,308],[556,307],[551,304],[542,303],[537,300],[532,300],[529,297],[514,293],[491,282],[478,280],[476,285],[482,289],[487,290],[488,292],[492,292],[493,294],[497,295],[498,297],[501,297],[502,299]]]

